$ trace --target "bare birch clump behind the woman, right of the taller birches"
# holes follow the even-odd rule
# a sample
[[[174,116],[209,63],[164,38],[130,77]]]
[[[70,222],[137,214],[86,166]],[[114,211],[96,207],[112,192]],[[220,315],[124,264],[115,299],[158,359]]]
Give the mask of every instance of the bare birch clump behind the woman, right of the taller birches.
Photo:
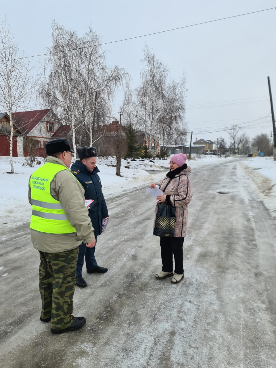
[[[134,91],[125,90],[122,111],[127,125],[149,135],[154,145],[153,158],[156,157],[157,144],[176,144],[185,141],[185,77],[180,82],[168,80],[167,67],[158,60],[146,45],[144,48],[141,83]],[[160,149],[159,149],[160,156]]]

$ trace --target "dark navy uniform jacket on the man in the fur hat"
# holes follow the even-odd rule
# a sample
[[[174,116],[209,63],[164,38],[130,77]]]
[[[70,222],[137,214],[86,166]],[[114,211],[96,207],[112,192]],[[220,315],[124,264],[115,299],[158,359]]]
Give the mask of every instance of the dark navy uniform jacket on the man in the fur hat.
[[[89,171],[79,160],[72,164],[71,170],[79,183],[84,187],[85,199],[93,199],[89,209],[89,217],[94,228],[94,234],[100,235],[102,233],[102,219],[109,217],[102,193],[102,184],[98,175],[100,170],[96,166],[93,171]]]

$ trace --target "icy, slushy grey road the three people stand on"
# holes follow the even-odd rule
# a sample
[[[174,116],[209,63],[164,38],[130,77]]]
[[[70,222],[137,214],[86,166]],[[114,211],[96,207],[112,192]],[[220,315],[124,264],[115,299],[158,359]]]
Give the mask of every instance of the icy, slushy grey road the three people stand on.
[[[109,271],[84,271],[74,315],[87,323],[76,332],[52,335],[39,321],[39,257],[28,228],[3,235],[0,367],[275,368],[275,220],[239,159],[190,178],[185,279],[154,277],[159,238],[145,188],[108,199],[96,258]]]

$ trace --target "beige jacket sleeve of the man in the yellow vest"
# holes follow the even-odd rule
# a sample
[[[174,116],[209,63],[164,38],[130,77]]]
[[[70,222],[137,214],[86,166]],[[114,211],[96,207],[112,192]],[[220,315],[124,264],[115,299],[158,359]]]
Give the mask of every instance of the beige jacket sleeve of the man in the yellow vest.
[[[51,195],[60,201],[70,224],[84,243],[95,239],[94,229],[84,201],[84,188],[68,170],[56,174],[50,184]]]

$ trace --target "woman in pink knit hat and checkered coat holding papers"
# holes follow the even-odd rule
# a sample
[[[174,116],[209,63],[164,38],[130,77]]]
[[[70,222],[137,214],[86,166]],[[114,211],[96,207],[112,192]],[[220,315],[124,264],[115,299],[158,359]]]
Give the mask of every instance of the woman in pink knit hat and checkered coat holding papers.
[[[180,282],[184,277],[183,270],[183,242],[186,236],[188,221],[188,204],[192,199],[192,183],[188,179],[191,167],[186,164],[185,153],[173,155],[170,159],[170,171],[159,183],[152,183],[151,188],[158,184],[163,195],[157,197],[158,202],[176,208],[176,223],[174,237],[160,237],[162,271],[156,273],[156,279],[165,279],[173,276],[172,283]],[[155,209],[155,215],[157,206]],[[153,229],[155,222],[153,224]],[[174,255],[174,273],[173,273]]]

